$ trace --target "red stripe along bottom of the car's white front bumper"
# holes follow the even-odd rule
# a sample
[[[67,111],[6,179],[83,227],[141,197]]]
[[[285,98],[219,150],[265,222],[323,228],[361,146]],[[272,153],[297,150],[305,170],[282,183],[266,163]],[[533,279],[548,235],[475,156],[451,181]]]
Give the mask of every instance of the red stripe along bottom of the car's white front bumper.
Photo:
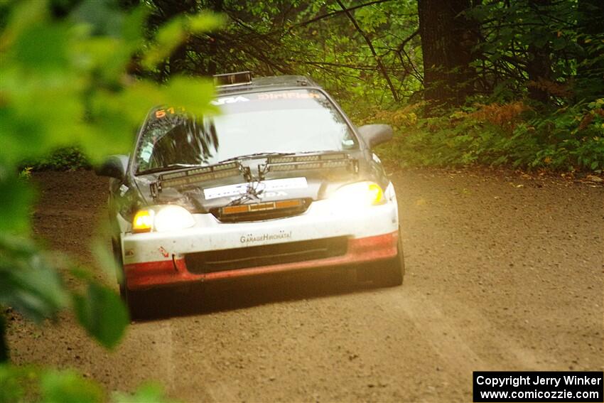
[[[330,267],[374,260],[389,259],[397,256],[398,232],[351,239],[348,241],[347,253],[343,256],[329,257],[327,259],[307,260],[286,264],[271,264],[269,266],[248,267],[246,269],[227,270],[207,274],[193,274],[188,272],[184,259],[162,260],[159,262],[145,262],[124,265],[126,284],[129,289],[142,289],[152,286],[176,284],[185,281],[211,281],[228,279],[240,276],[253,276],[291,270],[311,269],[316,267]]]

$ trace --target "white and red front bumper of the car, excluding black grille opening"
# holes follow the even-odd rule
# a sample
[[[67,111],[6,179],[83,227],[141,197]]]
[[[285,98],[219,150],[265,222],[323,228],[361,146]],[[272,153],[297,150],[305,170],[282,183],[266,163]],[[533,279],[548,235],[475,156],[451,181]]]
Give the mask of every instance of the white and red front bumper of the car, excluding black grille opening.
[[[333,267],[389,259],[397,255],[396,199],[384,205],[347,211],[320,200],[306,213],[262,222],[221,223],[213,215],[195,215],[196,225],[186,230],[122,235],[124,274],[129,289],[212,281],[291,270]],[[241,249],[286,242],[346,237],[345,254],[323,259],[197,273],[186,255],[206,251]]]

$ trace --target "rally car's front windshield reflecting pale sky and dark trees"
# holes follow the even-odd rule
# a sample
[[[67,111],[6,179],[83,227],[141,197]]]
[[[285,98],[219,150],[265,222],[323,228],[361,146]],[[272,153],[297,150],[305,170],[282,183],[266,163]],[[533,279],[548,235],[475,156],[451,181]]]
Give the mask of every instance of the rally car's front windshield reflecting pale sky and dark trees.
[[[332,102],[318,90],[296,89],[219,97],[214,117],[178,109],[151,111],[136,148],[137,171],[212,165],[272,152],[343,151],[358,147]]]

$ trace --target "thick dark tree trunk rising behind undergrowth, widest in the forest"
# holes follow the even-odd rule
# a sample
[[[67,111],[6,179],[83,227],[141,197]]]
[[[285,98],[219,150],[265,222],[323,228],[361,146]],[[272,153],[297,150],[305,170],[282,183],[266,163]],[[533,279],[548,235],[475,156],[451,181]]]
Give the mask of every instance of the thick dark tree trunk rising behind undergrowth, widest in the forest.
[[[478,24],[465,16],[470,0],[418,0],[424,55],[424,99],[459,105],[474,92],[470,63],[478,43]]]

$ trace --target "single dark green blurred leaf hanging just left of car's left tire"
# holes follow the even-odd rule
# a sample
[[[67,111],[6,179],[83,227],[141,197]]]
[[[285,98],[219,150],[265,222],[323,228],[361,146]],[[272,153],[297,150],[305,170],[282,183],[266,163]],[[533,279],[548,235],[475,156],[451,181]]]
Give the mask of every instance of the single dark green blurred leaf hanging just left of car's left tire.
[[[114,348],[119,343],[129,316],[115,291],[91,282],[86,295],[75,294],[73,303],[77,320],[92,337],[107,348]]]

